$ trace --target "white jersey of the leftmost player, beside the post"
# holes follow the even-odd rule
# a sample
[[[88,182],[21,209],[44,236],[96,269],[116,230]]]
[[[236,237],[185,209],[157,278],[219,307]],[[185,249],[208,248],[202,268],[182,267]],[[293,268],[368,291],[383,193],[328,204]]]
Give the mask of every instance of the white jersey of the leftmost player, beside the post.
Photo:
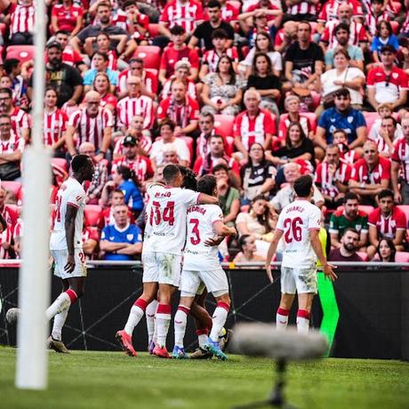
[[[65,216],[67,205],[75,206],[76,212],[76,232],[74,234],[74,247],[83,248],[83,221],[85,208],[85,191],[81,183],[74,178],[69,178],[60,186],[55,199],[55,216],[52,235],[50,237],[51,250],[66,250],[67,239],[65,233]]]

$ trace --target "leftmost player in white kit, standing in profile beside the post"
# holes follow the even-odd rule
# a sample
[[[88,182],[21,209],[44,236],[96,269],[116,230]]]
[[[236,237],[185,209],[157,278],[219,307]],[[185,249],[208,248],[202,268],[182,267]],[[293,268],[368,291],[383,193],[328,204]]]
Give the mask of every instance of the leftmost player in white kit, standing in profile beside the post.
[[[54,274],[61,278],[62,292],[46,310],[48,319],[54,318],[48,345],[57,352],[68,353],[61,341],[61,331],[68,309],[84,293],[86,267],[83,253],[83,221],[85,180],[92,180],[93,163],[86,155],[77,155],[71,161],[72,177],[60,187],[55,202],[55,217],[50,237],[54,258]]]

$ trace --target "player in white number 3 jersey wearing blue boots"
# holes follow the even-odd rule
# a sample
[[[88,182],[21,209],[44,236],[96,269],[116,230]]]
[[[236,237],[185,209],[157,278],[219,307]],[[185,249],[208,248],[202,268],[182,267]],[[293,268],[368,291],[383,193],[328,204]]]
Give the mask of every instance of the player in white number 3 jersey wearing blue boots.
[[[213,175],[205,175],[197,182],[201,193],[217,197],[217,181]],[[199,286],[204,283],[217,301],[212,318],[212,331],[204,348],[220,359],[227,359],[219,346],[219,334],[228,317],[230,299],[226,273],[221,269],[216,246],[206,245],[215,235],[235,235],[236,229],[223,223],[219,205],[192,205],[188,208],[188,236],[180,278],[180,303],[174,317],[175,346],[172,357],[187,358],[183,347],[186,323]]]

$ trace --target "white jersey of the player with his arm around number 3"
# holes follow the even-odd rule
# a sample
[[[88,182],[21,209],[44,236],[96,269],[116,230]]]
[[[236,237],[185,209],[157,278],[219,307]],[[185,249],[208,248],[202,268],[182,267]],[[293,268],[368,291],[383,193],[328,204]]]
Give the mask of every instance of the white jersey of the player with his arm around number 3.
[[[149,185],[147,190],[147,227],[142,251],[181,255],[186,241],[188,207],[197,204],[200,193],[159,185]]]

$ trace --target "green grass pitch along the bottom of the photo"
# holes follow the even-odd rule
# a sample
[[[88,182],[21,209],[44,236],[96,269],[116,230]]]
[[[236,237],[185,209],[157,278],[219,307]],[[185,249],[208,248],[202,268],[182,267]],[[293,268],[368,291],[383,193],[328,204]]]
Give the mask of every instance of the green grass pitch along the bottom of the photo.
[[[218,409],[267,397],[273,363],[125,357],[119,352],[50,352],[46,391],[14,389],[16,349],[0,348],[0,407],[7,409]],[[286,397],[300,408],[409,408],[409,363],[323,359],[288,366]]]

